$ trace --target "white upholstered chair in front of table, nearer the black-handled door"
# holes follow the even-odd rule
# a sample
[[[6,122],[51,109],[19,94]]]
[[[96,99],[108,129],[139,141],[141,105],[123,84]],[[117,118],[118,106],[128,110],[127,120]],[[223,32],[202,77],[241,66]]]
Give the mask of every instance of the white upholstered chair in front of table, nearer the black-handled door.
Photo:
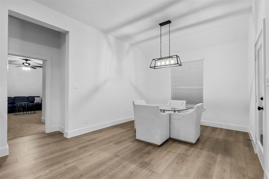
[[[170,113],[170,138],[196,143],[200,136],[203,103],[196,104],[190,112]]]

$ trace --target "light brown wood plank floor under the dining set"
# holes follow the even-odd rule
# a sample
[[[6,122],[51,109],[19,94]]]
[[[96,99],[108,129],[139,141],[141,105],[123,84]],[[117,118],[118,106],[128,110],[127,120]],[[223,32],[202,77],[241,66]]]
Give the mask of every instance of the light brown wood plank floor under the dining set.
[[[133,121],[64,138],[41,133],[8,141],[0,178],[263,178],[246,132],[201,126],[195,145],[136,141]]]

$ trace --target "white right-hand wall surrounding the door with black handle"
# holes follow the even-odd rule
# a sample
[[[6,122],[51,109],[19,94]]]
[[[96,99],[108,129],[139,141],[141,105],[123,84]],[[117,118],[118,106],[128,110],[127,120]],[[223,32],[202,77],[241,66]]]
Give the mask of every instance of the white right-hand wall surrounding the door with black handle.
[[[255,104],[255,61],[254,61],[254,45],[257,37],[263,28],[263,18],[265,18],[265,45],[266,45],[266,75],[269,75],[269,2],[268,1],[253,1],[252,13],[249,23],[249,36],[248,36],[248,89],[249,89],[249,128],[252,138],[255,140],[256,135],[256,104]],[[264,131],[264,155],[265,155],[265,178],[269,178],[269,147],[268,147],[268,132],[269,132],[269,86],[266,87],[266,120]],[[255,145],[255,144],[254,144]],[[255,148],[255,146],[254,146]]]

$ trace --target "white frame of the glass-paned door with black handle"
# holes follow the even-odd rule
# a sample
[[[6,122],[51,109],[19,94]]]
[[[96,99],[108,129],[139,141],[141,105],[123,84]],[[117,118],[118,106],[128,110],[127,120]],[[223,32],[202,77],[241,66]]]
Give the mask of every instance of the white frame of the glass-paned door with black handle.
[[[261,41],[261,44],[259,45],[258,42],[259,40]],[[263,146],[261,145],[261,143],[259,142],[259,112],[257,110],[258,107],[258,100],[259,97],[257,96],[257,86],[258,86],[258,81],[257,81],[257,54],[256,52],[262,48],[262,63],[263,63]],[[255,113],[256,113],[256,118],[255,118],[255,146],[254,146],[254,150],[257,153],[260,163],[262,165],[262,168],[264,169],[265,167],[265,150],[267,149],[267,133],[266,133],[266,85],[265,85],[265,77],[266,77],[266,48],[265,48],[265,18],[263,19],[263,28],[260,31],[260,33],[258,34],[256,41],[255,41],[255,45],[254,45],[254,60],[255,60],[255,97],[256,97],[256,102],[255,102]]]

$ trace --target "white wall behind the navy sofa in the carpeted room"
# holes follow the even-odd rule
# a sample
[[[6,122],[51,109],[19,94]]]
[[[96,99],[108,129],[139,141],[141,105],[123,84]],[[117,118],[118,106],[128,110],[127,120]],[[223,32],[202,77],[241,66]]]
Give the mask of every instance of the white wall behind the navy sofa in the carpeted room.
[[[18,65],[8,65],[7,95],[42,96],[42,68],[24,72]]]

